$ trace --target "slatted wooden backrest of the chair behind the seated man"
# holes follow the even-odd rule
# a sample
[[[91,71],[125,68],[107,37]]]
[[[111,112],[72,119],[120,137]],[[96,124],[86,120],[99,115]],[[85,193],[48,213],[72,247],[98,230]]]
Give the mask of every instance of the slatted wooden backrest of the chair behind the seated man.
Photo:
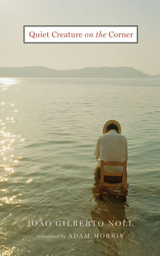
[[[123,172],[122,173],[109,173],[104,171],[104,166],[122,166]],[[126,180],[126,167],[127,162],[116,162],[116,161],[110,161],[110,162],[104,162],[101,160],[101,183],[104,182],[104,176],[122,176],[122,183]]]

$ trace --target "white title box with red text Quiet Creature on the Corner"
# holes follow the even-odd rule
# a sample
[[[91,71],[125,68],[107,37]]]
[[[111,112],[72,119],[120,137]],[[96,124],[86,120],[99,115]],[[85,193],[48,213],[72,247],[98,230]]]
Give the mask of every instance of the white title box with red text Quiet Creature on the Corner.
[[[138,26],[24,26],[23,42],[44,43],[138,43]]]

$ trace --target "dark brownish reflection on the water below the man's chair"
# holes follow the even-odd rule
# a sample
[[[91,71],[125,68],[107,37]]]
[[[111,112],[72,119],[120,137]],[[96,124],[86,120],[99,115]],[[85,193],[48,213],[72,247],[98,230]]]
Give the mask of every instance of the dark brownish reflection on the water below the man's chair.
[[[128,208],[126,199],[122,196],[109,194],[107,191],[100,200],[99,184],[94,184],[91,192],[95,199],[95,206],[90,211],[91,218],[96,223],[102,223],[102,221],[104,223],[101,227],[97,225],[97,229],[94,230],[96,235],[99,233],[99,239],[93,239],[93,248],[95,250],[99,249],[99,253],[101,253],[99,255],[118,256],[120,251],[126,253],[130,247],[130,227],[126,229],[122,224],[125,221],[125,225],[127,224],[128,226],[129,223],[125,212],[126,208]],[[114,226],[110,225],[109,221],[114,223]],[[120,226],[115,225],[116,221],[118,221],[118,225],[121,223]],[[120,238],[121,235],[122,238]]]

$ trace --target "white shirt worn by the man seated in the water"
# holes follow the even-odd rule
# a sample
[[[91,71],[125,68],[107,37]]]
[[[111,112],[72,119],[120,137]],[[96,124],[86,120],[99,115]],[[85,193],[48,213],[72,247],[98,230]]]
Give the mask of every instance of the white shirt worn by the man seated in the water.
[[[126,137],[120,135],[115,130],[110,130],[108,133],[105,133],[98,139],[94,155],[99,157],[97,160],[99,167],[101,167],[101,160],[104,162],[128,161]],[[122,172],[123,168],[118,166],[104,166],[104,170],[107,172],[120,173]]]

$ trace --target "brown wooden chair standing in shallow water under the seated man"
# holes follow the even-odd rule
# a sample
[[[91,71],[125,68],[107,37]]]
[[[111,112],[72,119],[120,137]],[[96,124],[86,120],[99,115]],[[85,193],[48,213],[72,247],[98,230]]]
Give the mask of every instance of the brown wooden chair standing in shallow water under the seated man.
[[[123,166],[123,172],[122,173],[109,173],[104,171],[104,166]],[[123,196],[126,197],[127,194],[127,162],[104,162],[101,161],[101,180],[100,180],[100,186],[99,186],[99,197],[103,197],[103,187],[120,187],[123,189]],[[118,183],[109,183],[104,182],[104,176],[122,176],[122,181]]]

